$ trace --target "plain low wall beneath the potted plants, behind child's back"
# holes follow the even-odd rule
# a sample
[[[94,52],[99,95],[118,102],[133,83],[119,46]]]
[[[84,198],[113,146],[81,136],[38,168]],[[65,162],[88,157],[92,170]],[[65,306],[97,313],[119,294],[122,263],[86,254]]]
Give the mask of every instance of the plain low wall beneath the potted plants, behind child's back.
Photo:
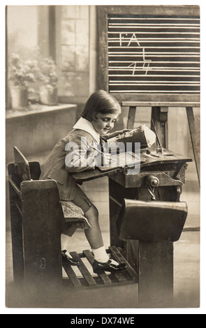
[[[34,159],[37,154],[51,151],[72,130],[76,110],[73,105],[67,110],[6,119],[6,163],[13,162],[13,146],[18,147],[24,156]]]

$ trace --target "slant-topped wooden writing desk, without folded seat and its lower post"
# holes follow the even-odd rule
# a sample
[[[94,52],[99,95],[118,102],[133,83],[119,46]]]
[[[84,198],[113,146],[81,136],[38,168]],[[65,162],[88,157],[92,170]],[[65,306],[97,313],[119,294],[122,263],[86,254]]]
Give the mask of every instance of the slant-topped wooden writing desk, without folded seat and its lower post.
[[[146,150],[141,151],[140,172],[129,174],[125,168],[114,168],[110,172],[102,172],[98,168],[92,171],[73,174],[78,183],[107,176],[109,179],[110,197],[110,244],[122,246],[117,235],[116,221],[124,198],[151,200],[145,181],[149,175],[159,179],[158,191],[154,191],[156,200],[179,202],[182,186],[185,183],[187,162],[192,159],[170,151],[170,156],[153,157]]]

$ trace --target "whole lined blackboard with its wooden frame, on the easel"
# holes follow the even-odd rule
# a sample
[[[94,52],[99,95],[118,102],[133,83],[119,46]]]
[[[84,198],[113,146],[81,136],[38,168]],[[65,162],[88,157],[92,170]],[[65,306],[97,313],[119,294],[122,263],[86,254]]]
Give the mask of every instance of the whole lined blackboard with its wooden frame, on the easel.
[[[198,6],[100,6],[98,20],[101,89],[119,100],[198,99]]]

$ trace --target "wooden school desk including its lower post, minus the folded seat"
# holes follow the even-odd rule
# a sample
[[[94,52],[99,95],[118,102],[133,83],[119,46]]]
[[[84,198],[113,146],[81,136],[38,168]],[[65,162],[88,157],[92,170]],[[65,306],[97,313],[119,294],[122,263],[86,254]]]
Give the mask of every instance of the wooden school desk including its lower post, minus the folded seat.
[[[180,201],[182,186],[185,183],[187,163],[191,162],[192,159],[181,154],[175,154],[172,151],[166,151],[166,153],[168,156],[156,157],[147,154],[146,149],[141,150],[141,165],[138,174],[129,174],[124,167],[114,169],[111,172],[102,172],[96,168],[94,171],[73,174],[73,177],[80,184],[84,181],[108,176],[110,245],[122,248],[122,253],[129,264],[131,264],[131,267],[138,274],[141,274],[139,277],[139,299],[142,297],[142,304],[145,301],[146,305],[148,297],[150,299],[153,297],[154,301],[157,299],[160,302],[163,301],[165,304],[165,297],[162,297],[162,292],[165,289],[167,290],[168,302],[172,299],[174,278],[173,243],[164,241],[151,244],[148,242],[140,243],[135,239],[121,240],[119,239],[117,225],[124,198],[145,201],[152,199],[165,202]],[[152,181],[156,180],[156,178],[159,181],[158,188],[153,188]],[[135,230],[135,226],[132,229]],[[145,256],[147,258],[146,265],[144,263]],[[140,265],[142,267],[141,271]],[[158,266],[159,275],[152,274],[154,266]],[[159,288],[160,280],[163,282],[161,288]],[[148,290],[145,286],[148,286]],[[153,292],[151,292],[152,290]]]

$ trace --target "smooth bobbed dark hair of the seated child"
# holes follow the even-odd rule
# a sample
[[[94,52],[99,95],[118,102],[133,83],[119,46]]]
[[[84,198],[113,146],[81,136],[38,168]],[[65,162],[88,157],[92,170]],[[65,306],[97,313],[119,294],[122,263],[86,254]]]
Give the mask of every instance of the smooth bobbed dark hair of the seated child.
[[[95,121],[96,114],[116,114],[121,112],[121,107],[111,94],[107,91],[98,90],[91,94],[82,112],[82,117],[88,121]]]

